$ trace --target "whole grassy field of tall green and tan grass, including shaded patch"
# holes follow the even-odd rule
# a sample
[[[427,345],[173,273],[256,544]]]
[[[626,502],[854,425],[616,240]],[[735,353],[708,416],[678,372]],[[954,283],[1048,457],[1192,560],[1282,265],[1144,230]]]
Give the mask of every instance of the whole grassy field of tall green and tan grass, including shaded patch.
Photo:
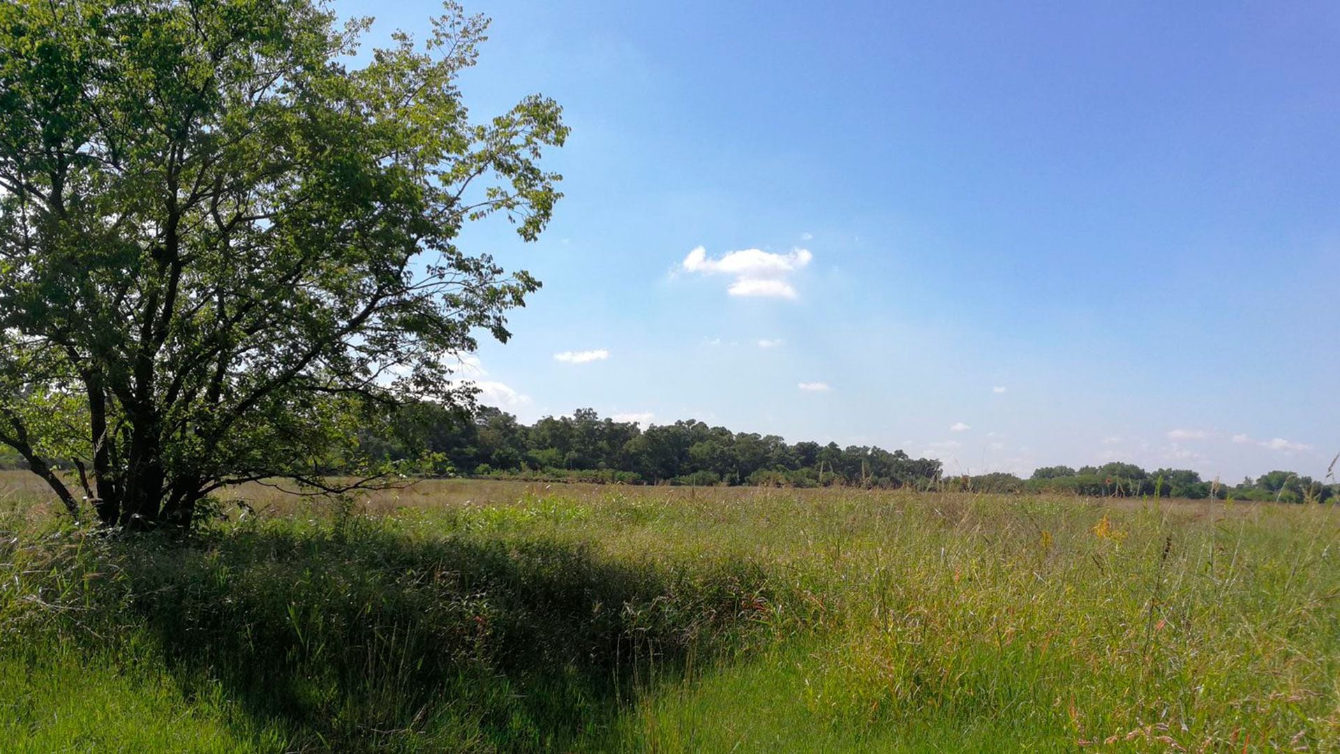
[[[5,751],[1337,751],[1340,511],[425,482],[0,503]]]

